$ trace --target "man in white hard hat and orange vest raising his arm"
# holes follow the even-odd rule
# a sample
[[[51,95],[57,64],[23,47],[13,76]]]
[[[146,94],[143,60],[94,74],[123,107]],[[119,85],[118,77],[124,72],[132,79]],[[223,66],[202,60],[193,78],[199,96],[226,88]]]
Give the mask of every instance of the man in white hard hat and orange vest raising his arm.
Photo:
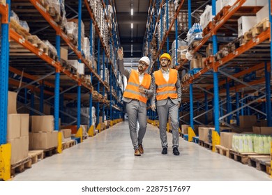
[[[133,70],[132,68],[125,69],[123,67],[123,48],[118,49],[117,54],[119,70],[128,79],[126,90],[123,93],[123,101],[126,102],[130,138],[135,150],[134,155],[140,156],[144,153],[142,141],[147,125],[146,102],[153,95],[153,91],[151,90],[151,75],[145,72],[149,68],[150,60],[144,56],[139,59],[138,70]],[[137,120],[139,121],[138,135]]]

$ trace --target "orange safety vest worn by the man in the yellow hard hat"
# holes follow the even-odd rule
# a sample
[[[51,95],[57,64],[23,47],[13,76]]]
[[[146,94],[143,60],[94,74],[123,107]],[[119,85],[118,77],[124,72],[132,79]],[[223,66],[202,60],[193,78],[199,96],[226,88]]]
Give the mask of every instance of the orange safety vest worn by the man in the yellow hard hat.
[[[157,100],[165,100],[167,98],[176,99],[178,98],[178,93],[176,92],[176,81],[178,80],[178,71],[170,68],[169,70],[169,80],[165,81],[163,77],[162,70],[157,70],[154,72],[155,83],[157,87]]]

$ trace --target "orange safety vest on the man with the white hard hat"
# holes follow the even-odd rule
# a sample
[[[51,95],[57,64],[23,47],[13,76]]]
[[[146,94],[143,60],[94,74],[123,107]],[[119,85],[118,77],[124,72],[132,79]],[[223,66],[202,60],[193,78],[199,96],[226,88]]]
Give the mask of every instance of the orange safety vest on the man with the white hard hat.
[[[148,98],[146,94],[139,92],[139,75],[136,70],[131,70],[130,78],[128,79],[128,84],[126,90],[123,93],[123,97],[130,99],[137,99],[146,104]],[[149,88],[151,85],[151,76],[147,73],[144,73],[144,79],[141,84],[144,88]]]

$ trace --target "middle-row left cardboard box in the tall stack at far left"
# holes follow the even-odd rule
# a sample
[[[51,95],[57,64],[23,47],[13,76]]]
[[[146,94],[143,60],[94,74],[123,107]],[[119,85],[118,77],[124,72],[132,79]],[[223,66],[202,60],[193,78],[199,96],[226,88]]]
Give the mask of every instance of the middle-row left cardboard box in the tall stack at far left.
[[[21,136],[20,114],[8,114],[7,139],[15,139]]]

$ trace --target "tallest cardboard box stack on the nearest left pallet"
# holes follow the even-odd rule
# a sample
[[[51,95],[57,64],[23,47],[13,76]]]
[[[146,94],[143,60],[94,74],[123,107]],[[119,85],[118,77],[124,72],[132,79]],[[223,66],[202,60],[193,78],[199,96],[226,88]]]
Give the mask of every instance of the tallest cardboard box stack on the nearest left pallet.
[[[17,114],[17,93],[8,91],[7,142],[11,144],[11,164],[29,154],[29,114]]]

